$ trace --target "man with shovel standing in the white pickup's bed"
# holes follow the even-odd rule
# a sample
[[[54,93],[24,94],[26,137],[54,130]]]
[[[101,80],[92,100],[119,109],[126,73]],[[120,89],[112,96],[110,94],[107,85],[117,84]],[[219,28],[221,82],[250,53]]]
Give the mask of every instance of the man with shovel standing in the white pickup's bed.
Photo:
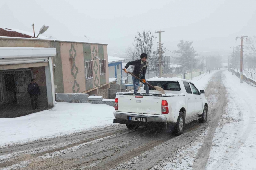
[[[146,75],[146,71],[147,71],[147,67],[148,67],[147,54],[142,53],[140,55],[140,60],[129,61],[125,66],[126,73],[128,72],[127,68],[130,65],[134,66],[134,70],[133,70],[132,74],[134,74],[135,76],[142,79],[142,83],[145,86],[146,93],[149,94],[149,86],[148,86],[148,84],[146,84],[146,80],[145,80],[145,75]],[[139,79],[132,76],[132,82],[133,82],[133,87],[134,87],[133,93],[134,94],[137,94],[137,92],[138,92],[139,81],[140,81]]]

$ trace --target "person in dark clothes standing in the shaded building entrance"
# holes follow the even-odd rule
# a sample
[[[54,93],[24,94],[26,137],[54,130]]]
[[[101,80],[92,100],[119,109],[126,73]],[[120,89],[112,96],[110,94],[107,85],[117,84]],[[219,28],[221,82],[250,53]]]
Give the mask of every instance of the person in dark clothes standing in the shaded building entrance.
[[[31,99],[31,105],[32,105],[32,109],[39,109],[38,105],[37,105],[37,99],[38,99],[38,95],[41,96],[41,90],[38,86],[38,84],[36,83],[35,79],[31,79],[31,83],[28,84],[28,89],[27,89],[30,99]]]

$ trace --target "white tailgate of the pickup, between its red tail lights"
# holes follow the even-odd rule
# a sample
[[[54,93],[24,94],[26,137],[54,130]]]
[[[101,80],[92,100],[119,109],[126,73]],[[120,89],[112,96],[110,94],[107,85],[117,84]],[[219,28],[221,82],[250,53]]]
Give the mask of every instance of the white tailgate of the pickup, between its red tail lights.
[[[160,115],[162,113],[162,97],[118,95],[118,111]]]

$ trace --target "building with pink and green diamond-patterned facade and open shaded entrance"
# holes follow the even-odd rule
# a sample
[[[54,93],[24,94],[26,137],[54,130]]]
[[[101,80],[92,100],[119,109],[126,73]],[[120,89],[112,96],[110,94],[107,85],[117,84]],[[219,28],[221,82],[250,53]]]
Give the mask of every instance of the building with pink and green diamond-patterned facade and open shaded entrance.
[[[25,101],[29,99],[26,88],[31,78],[36,80],[42,91],[43,97],[38,99],[39,102],[46,105],[54,105],[55,101],[49,100],[55,99],[55,93],[88,93],[108,98],[107,44],[34,38],[1,28],[0,33],[2,51],[8,48],[12,51],[56,49],[56,54],[46,59],[39,54],[38,57],[33,56],[33,60],[32,54],[31,57],[29,54],[25,57],[17,54],[16,58],[9,56],[10,59],[1,56],[0,105],[10,102],[30,104]],[[50,93],[52,99],[49,99]]]

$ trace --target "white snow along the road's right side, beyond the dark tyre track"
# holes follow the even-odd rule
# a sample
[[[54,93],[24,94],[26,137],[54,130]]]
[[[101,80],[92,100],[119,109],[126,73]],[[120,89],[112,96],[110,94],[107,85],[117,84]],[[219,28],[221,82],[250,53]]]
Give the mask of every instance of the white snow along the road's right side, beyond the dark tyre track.
[[[213,138],[207,170],[256,167],[256,88],[225,71],[227,105]]]

